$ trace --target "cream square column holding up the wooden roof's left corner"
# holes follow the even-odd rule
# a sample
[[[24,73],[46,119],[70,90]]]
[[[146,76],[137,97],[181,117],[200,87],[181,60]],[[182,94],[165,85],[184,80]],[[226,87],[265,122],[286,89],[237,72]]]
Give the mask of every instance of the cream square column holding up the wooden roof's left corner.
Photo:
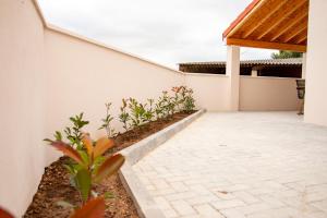
[[[240,47],[227,46],[226,75],[229,76],[230,110],[239,110]]]

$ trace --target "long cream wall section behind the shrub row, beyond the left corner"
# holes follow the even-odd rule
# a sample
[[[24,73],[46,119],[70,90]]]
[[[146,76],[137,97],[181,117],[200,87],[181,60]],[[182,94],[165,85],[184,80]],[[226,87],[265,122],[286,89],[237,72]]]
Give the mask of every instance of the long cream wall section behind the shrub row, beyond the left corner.
[[[118,117],[122,98],[157,98],[162,90],[184,84],[180,72],[52,29],[45,32],[45,51],[49,135],[83,111],[92,121],[87,131],[99,136],[105,134],[96,131],[106,114],[105,102],[112,102],[112,114]],[[120,123],[114,124],[120,130]]]

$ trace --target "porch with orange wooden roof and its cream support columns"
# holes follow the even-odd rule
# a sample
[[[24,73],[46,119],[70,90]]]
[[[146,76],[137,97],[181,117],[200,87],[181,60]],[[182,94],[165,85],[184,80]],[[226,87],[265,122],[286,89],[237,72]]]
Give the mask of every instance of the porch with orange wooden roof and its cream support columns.
[[[305,78],[307,23],[308,0],[254,0],[231,23],[222,34],[228,46],[226,74],[230,76],[230,110],[238,111],[243,108],[240,92],[240,47],[303,52],[301,77]],[[259,99],[258,95],[258,99],[254,101]]]

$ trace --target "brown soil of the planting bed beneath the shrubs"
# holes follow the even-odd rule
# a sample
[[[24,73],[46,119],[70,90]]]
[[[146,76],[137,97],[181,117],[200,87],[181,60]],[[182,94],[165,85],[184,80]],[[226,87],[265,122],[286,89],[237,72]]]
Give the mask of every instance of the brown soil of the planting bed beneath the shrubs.
[[[119,152],[134,143],[182,120],[190,113],[175,113],[169,120],[153,121],[143,125],[141,129],[134,129],[119,134],[116,138],[116,147],[110,153]],[[73,205],[80,205],[81,199],[77,191],[70,185],[69,173],[62,166],[68,161],[66,157],[61,157],[45,169],[45,173],[38,186],[33,202],[24,215],[24,218],[65,218],[71,210],[63,208],[57,203],[65,201]],[[106,199],[106,218],[138,218],[136,208],[124,190],[118,174],[107,178],[100,185],[95,187],[99,194],[106,192],[112,193],[113,197]]]

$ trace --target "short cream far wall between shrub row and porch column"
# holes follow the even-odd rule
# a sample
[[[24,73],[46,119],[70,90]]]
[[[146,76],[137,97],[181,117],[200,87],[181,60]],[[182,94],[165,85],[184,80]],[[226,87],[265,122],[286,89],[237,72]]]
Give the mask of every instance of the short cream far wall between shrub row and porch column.
[[[230,109],[229,76],[187,73],[185,84],[194,89],[197,108],[210,111]]]

